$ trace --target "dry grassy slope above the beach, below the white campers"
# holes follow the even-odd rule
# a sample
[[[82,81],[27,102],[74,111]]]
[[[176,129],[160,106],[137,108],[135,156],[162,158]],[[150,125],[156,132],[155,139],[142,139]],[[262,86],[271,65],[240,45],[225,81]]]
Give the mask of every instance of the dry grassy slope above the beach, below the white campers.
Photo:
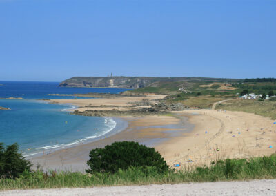
[[[217,104],[216,109],[240,111],[254,113],[264,117],[276,119],[276,102],[275,101],[257,101],[249,99],[237,99],[227,101],[223,104]]]

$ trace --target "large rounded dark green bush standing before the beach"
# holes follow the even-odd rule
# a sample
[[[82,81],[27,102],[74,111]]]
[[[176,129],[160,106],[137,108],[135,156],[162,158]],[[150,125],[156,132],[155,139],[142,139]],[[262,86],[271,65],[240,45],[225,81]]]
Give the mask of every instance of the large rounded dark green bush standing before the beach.
[[[127,170],[130,167],[146,168],[155,167],[162,173],[168,170],[164,158],[155,151],[133,141],[115,142],[104,148],[96,148],[90,151],[90,166],[87,173],[115,173],[118,170]]]

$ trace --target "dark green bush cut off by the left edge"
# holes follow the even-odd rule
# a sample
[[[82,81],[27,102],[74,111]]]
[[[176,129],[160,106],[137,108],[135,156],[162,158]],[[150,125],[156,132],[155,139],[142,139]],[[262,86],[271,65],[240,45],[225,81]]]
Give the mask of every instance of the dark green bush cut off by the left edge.
[[[18,144],[4,148],[3,143],[0,143],[0,177],[15,178],[25,170],[30,171],[30,161],[17,152],[18,148]]]

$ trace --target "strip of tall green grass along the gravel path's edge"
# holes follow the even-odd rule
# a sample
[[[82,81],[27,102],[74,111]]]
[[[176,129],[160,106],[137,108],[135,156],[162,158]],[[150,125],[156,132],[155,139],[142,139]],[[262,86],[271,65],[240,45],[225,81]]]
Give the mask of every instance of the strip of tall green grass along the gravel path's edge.
[[[276,178],[276,155],[251,159],[226,159],[210,167],[168,170],[158,173],[155,168],[128,168],[115,174],[95,175],[62,172],[25,172],[17,179],[0,179],[0,189],[64,188],[89,186],[123,186],[135,184],[172,184],[182,182],[217,182]]]

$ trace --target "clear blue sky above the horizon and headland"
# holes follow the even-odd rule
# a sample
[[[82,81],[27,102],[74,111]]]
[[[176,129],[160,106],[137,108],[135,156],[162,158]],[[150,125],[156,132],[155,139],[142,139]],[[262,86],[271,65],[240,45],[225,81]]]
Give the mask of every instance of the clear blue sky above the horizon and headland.
[[[0,0],[0,81],[276,77],[276,1]]]

